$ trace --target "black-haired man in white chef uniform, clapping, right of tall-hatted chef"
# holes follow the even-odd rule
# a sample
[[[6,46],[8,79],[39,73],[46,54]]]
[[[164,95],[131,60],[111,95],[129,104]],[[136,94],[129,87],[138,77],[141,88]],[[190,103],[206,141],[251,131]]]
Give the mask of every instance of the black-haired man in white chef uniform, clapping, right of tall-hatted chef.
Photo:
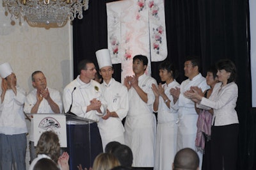
[[[125,77],[124,84],[129,89],[129,112],[125,120],[125,144],[133,154],[134,167],[154,167],[156,143],[156,116],[153,114],[155,100],[152,84],[156,80],[145,75],[148,59],[134,56],[133,76]]]

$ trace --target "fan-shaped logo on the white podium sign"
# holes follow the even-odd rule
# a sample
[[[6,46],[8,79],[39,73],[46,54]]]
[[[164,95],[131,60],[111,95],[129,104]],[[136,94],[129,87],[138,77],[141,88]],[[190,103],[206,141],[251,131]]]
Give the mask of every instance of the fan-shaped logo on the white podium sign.
[[[60,123],[52,117],[46,117],[40,121],[38,127],[44,130],[56,130],[60,128]]]

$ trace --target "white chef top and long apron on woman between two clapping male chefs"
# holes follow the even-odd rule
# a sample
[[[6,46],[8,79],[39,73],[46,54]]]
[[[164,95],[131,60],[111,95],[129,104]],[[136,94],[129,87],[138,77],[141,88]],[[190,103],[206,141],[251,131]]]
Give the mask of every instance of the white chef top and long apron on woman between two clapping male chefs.
[[[172,169],[172,164],[177,148],[177,119],[178,110],[173,108],[173,97],[170,95],[170,89],[180,86],[177,81],[163,84],[164,93],[170,100],[170,109],[165,104],[163,97],[159,97],[159,106],[157,112],[157,130],[156,130],[156,159],[155,170]]]

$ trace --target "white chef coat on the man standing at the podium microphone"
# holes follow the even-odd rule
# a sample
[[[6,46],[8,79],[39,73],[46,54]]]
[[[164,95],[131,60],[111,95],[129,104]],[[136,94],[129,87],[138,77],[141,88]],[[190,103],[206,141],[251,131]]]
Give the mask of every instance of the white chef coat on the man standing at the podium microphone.
[[[73,92],[73,104],[71,108],[71,112],[80,116],[82,118],[87,118],[93,121],[99,121],[100,117],[106,111],[106,102],[102,97],[102,89],[100,88],[100,84],[97,81],[91,80],[88,84],[84,83],[80,80],[80,75],[77,78],[68,84],[63,91],[63,106],[65,112],[67,112],[72,103],[72,91],[76,87]],[[90,101],[96,98],[100,100],[101,107],[100,112],[95,110],[86,112],[87,106],[90,105]]]

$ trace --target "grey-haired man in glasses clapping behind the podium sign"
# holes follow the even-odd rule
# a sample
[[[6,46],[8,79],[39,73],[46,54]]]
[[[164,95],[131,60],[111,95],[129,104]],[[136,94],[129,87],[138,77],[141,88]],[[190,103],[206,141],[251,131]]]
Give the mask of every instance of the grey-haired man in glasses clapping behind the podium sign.
[[[43,72],[35,71],[31,75],[35,89],[26,97],[24,112],[26,113],[61,113],[62,100],[60,92],[47,87],[47,80]],[[33,116],[31,116],[31,130],[29,135],[30,162],[36,158],[33,130]]]

